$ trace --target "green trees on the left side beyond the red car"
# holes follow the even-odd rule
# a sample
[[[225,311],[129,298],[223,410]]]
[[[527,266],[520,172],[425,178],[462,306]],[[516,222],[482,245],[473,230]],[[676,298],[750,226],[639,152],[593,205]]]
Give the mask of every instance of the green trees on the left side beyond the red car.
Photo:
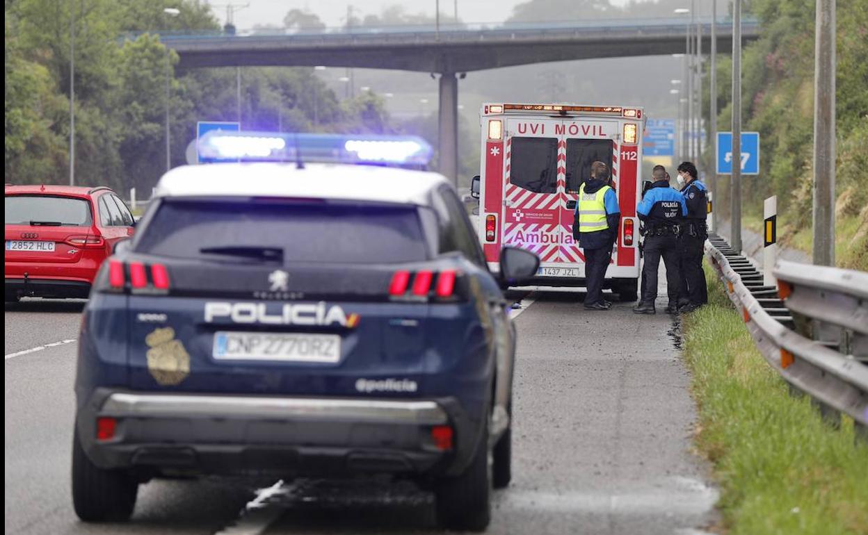
[[[178,57],[159,33],[220,30],[207,3],[17,0],[5,15],[7,181],[67,182],[72,16],[78,184],[149,191],[166,169],[167,108],[172,166],[186,163],[196,121],[240,116],[247,130],[391,130],[376,95],[342,103],[313,69],[240,69],[240,109],[236,69],[176,74]],[[316,23],[298,10],[290,15],[298,29]]]

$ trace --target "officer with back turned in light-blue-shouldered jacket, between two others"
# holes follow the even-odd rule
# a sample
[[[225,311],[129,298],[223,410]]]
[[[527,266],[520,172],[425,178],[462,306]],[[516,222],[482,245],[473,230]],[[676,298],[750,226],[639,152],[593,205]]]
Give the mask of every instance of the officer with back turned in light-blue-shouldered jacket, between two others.
[[[652,176],[654,182],[648,187],[639,206],[636,206],[636,214],[643,223],[645,263],[642,265],[641,297],[633,311],[636,314],[656,313],[657,271],[660,258],[663,257],[669,297],[666,311],[674,314],[678,311],[678,298],[681,296],[678,232],[682,218],[687,215],[687,206],[681,194],[669,187],[664,166],[654,166]]]

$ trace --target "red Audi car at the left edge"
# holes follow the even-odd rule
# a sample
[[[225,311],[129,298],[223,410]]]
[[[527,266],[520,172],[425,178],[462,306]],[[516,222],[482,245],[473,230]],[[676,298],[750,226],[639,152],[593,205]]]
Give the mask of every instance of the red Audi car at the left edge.
[[[5,188],[6,303],[21,297],[88,297],[115,244],[135,219],[108,187]]]

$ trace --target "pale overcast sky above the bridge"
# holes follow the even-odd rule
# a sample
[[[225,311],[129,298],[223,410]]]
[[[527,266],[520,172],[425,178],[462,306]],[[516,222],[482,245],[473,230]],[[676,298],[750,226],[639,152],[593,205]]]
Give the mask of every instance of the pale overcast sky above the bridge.
[[[512,14],[512,8],[527,0],[457,0],[458,18],[465,23],[499,23]],[[352,4],[353,10],[362,16],[379,15],[391,5],[402,5],[408,13],[428,13],[434,15],[435,0],[212,0],[214,13],[225,23],[227,3],[249,7],[235,11],[235,26],[239,29],[253,28],[256,24],[281,24],[286,12],[293,9],[309,10],[319,16],[327,26],[344,24],[346,6]],[[624,5],[626,0],[611,0],[613,5]],[[440,12],[452,15],[455,0],[440,0]]]

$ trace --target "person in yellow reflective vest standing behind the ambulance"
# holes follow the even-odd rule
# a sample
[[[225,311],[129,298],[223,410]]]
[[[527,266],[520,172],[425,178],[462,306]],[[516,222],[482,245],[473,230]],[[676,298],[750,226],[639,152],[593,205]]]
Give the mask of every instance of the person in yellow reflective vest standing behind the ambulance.
[[[591,164],[591,176],[579,187],[579,202],[575,205],[573,238],[585,252],[588,310],[608,310],[612,306],[602,298],[602,282],[618,236],[621,208],[615,190],[608,185],[608,176],[608,166],[602,161]]]

